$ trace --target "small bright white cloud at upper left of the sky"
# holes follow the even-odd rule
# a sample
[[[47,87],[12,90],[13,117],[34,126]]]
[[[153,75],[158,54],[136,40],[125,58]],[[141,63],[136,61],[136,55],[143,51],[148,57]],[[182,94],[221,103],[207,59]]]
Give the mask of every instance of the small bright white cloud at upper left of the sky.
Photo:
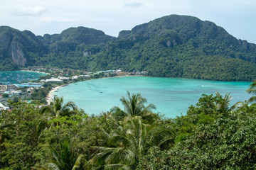
[[[46,13],[46,8],[43,6],[20,7],[16,8],[12,13],[15,16],[41,16],[43,13]]]

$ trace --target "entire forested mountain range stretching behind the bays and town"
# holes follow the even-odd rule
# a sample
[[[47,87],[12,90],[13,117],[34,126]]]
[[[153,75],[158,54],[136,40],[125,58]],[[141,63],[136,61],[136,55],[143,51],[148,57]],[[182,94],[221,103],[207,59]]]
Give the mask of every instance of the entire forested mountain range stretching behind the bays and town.
[[[237,40],[215,23],[192,16],[164,16],[122,30],[117,38],[83,27],[43,37],[27,30],[0,30],[1,60],[16,64],[5,67],[9,62],[1,62],[1,70],[30,65],[95,71],[122,68],[146,70],[154,77],[225,81],[252,81],[256,75],[255,44]],[[6,45],[12,43],[6,42],[11,35],[20,40],[19,48]],[[16,62],[15,52],[23,52],[28,62]]]

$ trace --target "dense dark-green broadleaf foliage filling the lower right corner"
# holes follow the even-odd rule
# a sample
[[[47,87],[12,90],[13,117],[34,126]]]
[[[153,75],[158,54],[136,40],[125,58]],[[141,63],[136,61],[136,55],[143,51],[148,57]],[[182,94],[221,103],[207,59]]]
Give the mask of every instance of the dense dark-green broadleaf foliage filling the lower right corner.
[[[255,169],[255,125],[253,113],[218,115],[171,149],[152,148],[137,169]]]

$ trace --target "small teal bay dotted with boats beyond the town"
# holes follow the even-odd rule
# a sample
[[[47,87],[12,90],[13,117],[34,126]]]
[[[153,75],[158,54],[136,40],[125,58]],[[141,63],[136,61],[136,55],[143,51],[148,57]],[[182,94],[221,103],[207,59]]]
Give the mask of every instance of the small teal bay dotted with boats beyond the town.
[[[45,76],[44,73],[38,72],[23,72],[23,71],[12,71],[12,72],[0,72],[0,83],[2,84],[18,84],[22,81],[30,81],[38,79],[38,77]]]

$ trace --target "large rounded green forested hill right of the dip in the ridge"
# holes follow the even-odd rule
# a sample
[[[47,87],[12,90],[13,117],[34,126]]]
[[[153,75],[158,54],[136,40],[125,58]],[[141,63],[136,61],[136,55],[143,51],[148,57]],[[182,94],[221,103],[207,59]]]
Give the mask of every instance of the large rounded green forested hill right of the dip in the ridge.
[[[120,32],[105,52],[87,61],[100,63],[97,69],[121,66],[155,77],[239,81],[255,79],[243,77],[245,69],[255,74],[255,50],[209,21],[166,16]]]

